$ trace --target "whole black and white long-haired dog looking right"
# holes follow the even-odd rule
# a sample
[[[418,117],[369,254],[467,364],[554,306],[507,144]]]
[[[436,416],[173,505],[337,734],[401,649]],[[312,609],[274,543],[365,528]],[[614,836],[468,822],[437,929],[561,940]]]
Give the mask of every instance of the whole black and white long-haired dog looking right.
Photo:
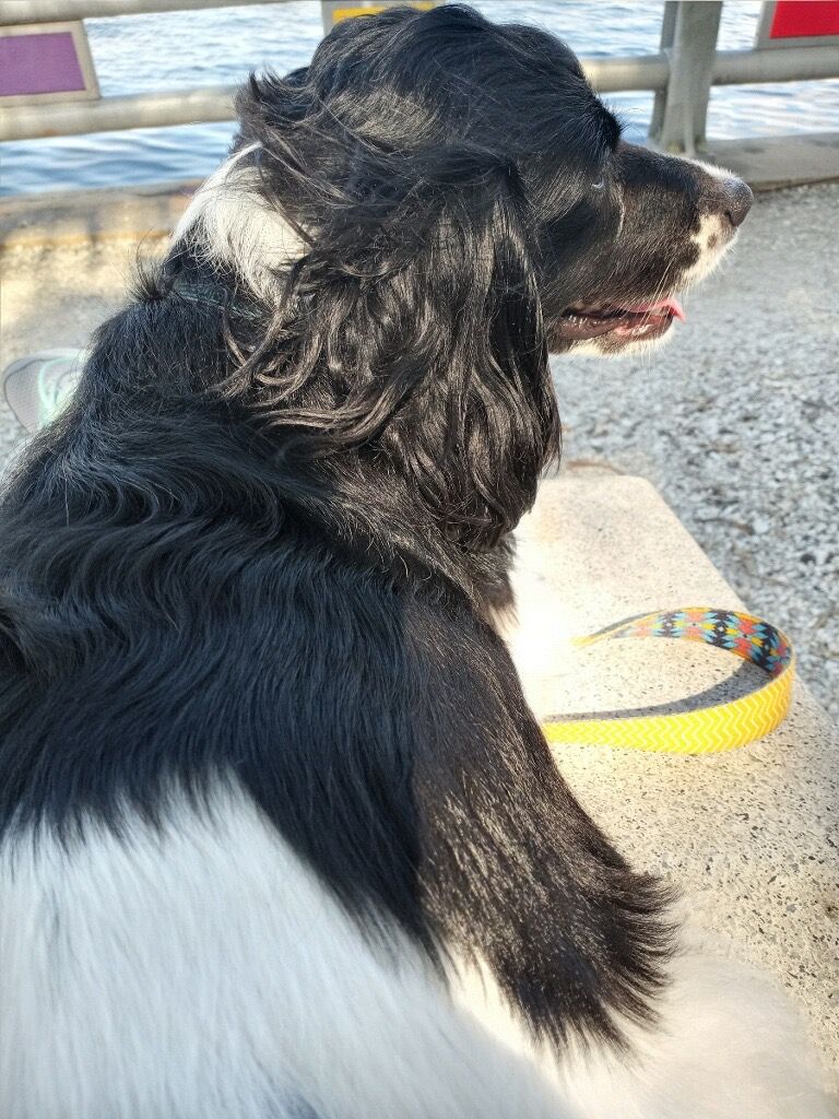
[[[2,501],[1,1119],[823,1119],[491,622],[548,350],[663,335],[748,189],[454,6],[239,110]]]

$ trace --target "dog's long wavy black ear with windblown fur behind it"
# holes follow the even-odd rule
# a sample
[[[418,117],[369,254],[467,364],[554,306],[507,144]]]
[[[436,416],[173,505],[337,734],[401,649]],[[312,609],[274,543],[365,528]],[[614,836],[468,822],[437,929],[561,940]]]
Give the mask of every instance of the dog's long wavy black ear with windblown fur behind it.
[[[300,72],[239,97],[266,201],[303,235],[247,383],[275,438],[351,449],[493,547],[559,443],[526,187],[474,138],[399,143],[386,105],[339,120],[323,96]]]

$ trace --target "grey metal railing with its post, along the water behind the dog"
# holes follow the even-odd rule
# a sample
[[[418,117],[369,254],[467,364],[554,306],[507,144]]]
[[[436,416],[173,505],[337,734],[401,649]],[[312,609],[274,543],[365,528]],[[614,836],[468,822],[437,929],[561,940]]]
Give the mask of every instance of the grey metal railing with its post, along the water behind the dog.
[[[257,0],[0,0],[0,25],[244,7],[254,2]],[[279,4],[287,0],[258,2]],[[713,85],[839,77],[836,46],[716,50],[722,8],[717,0],[668,0],[657,54],[582,59],[588,79],[601,93],[656,92],[650,139],[658,147],[692,153],[703,143]],[[227,121],[234,115],[235,88],[207,86],[88,102],[0,106],[0,140]]]

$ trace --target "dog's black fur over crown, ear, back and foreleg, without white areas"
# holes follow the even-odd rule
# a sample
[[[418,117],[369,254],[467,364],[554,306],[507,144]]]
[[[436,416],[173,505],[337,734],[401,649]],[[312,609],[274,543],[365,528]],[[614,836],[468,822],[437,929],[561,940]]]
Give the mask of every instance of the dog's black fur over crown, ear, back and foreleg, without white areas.
[[[340,26],[241,143],[309,251],[190,236],[0,510],[0,822],[234,777],[370,930],[486,960],[540,1036],[649,1016],[664,897],[574,800],[487,620],[559,426],[545,307],[613,215],[573,55],[466,9]],[[611,224],[610,224],[611,223]]]

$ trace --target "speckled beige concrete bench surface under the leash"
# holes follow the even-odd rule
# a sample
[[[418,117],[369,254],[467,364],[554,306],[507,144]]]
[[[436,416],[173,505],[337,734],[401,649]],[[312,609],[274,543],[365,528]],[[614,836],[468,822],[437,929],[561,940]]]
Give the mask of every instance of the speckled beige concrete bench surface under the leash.
[[[521,626],[511,645],[537,713],[742,686],[742,661],[688,642],[568,649],[569,637],[645,610],[743,609],[644,480],[586,470],[545,482],[519,556]],[[559,746],[556,756],[619,848],[682,890],[717,950],[789,989],[839,1069],[839,739],[807,688],[796,685],[772,735],[732,753]]]

